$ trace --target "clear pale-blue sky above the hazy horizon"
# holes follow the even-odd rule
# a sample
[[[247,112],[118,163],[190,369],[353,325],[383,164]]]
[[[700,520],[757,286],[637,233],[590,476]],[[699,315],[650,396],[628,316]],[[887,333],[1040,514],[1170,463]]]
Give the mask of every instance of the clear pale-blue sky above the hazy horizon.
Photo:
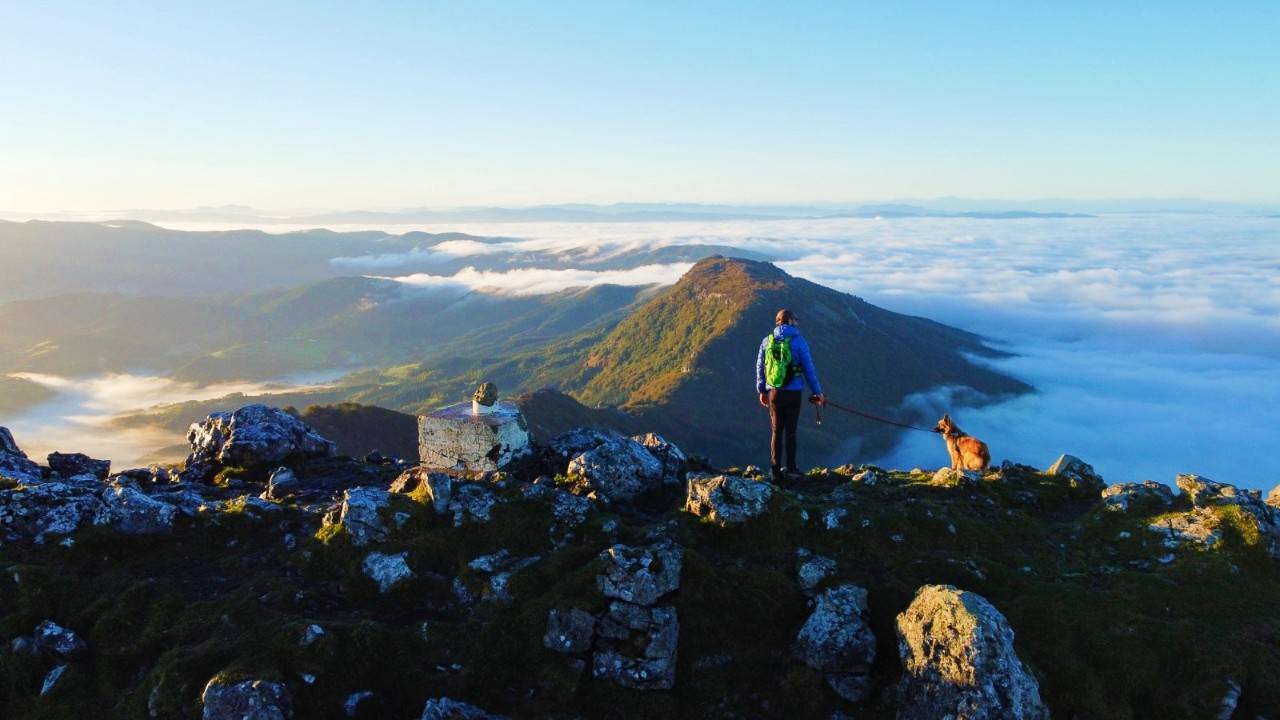
[[[1277,36],[1280,3],[12,1],[0,210],[1275,202]]]

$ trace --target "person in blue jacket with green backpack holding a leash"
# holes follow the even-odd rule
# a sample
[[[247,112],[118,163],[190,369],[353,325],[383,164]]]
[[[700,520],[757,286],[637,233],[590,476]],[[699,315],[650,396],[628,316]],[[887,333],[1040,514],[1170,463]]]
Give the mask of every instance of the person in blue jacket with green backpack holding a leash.
[[[760,405],[769,409],[769,424],[773,429],[771,470],[773,482],[782,482],[786,477],[783,473],[799,473],[796,425],[800,423],[805,383],[809,383],[814,402],[820,405],[827,401],[827,396],[822,393],[809,343],[796,327],[795,313],[778,310],[773,324],[773,332],[760,341],[760,352],[755,357],[755,392],[760,396]],[[787,454],[785,470],[783,443]]]

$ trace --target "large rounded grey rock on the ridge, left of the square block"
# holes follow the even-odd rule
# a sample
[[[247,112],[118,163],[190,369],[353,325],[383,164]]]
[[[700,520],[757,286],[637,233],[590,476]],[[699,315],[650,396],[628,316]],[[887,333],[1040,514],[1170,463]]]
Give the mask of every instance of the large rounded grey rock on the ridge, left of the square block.
[[[292,460],[332,457],[337,446],[279,407],[246,405],[214,413],[187,432],[191,455],[183,477],[207,480],[219,468],[270,468]]]

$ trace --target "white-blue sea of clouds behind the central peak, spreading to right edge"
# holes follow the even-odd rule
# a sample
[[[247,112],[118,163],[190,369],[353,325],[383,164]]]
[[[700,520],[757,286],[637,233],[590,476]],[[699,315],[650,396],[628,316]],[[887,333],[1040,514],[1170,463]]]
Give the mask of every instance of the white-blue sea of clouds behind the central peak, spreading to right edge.
[[[951,409],[997,460],[1047,466],[1070,452],[1112,482],[1171,483],[1176,473],[1257,488],[1280,482],[1267,452],[1276,447],[1272,433],[1280,425],[1280,219],[1153,214],[420,229],[513,238],[451,246],[442,252],[451,260],[466,258],[467,250],[580,256],[590,249],[608,258],[695,243],[764,254],[791,274],[977,332],[1014,352],[995,365],[1032,383],[1037,393],[954,409],[950,388],[936,388],[901,409],[915,421]],[[411,286],[512,293],[675,282],[687,268],[468,268],[436,277],[396,275],[390,256],[362,261]],[[878,461],[946,462],[936,437],[908,436]]]

